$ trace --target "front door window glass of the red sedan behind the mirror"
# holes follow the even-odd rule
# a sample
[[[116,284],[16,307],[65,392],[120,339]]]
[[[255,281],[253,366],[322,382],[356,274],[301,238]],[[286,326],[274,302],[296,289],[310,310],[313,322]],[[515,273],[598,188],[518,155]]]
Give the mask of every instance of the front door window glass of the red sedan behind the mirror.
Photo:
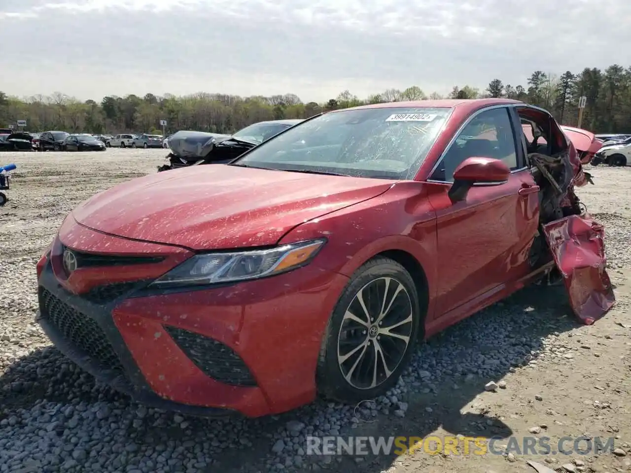
[[[511,170],[521,167],[507,108],[492,108],[476,115],[451,144],[430,178],[454,182],[454,171],[467,158],[502,160]]]

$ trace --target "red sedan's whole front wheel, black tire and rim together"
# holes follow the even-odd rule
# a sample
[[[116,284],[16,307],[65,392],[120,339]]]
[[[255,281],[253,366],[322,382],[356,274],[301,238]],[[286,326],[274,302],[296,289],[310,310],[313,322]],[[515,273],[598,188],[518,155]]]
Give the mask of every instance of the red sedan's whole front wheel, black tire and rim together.
[[[381,324],[369,327],[368,324],[359,324],[348,317],[352,312],[355,317],[367,320],[366,312],[359,301],[361,297],[365,303],[363,307],[366,307],[372,316],[371,320],[379,321],[379,314],[384,305],[384,294],[387,296],[386,307],[390,307],[390,310],[386,309],[385,314],[381,316],[382,322],[386,322],[386,329],[390,327],[393,330],[392,327],[396,325],[397,328],[393,331],[399,336],[408,337],[407,344],[399,337],[380,332],[384,330]],[[359,313],[361,315],[358,315]],[[408,318],[410,320],[404,322]],[[401,372],[408,366],[424,319],[416,286],[410,273],[403,266],[384,257],[377,257],[365,263],[351,277],[329,318],[315,371],[318,393],[349,404],[357,404],[362,400],[374,399],[385,394],[395,385]],[[343,335],[351,338],[343,340]],[[340,349],[340,342],[348,347]],[[379,357],[375,356],[379,353],[375,346],[379,347]],[[392,351],[395,347],[398,350]],[[387,370],[384,370],[384,351],[392,351],[393,356]],[[340,357],[345,359],[341,360]],[[375,359],[380,361],[377,365],[376,382],[374,375],[358,376],[361,373],[357,367],[362,363],[369,366],[369,373],[374,373],[374,364],[370,362]]]

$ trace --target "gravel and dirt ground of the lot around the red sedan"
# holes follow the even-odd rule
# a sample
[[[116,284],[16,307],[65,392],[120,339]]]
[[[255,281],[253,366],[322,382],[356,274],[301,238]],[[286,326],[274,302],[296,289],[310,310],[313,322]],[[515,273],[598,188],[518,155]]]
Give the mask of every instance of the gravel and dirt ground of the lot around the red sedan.
[[[595,168],[596,185],[579,190],[606,225],[618,297],[595,325],[575,322],[562,288],[526,288],[423,343],[386,397],[357,408],[319,401],[282,416],[217,421],[147,409],[95,384],[33,322],[35,263],[62,218],[98,190],[155,172],[164,155],[0,154],[2,163],[18,165],[11,200],[0,207],[0,472],[488,473],[529,469],[526,458],[564,471],[631,470],[622,455],[631,441],[630,168]],[[486,391],[491,381],[499,387]],[[307,435],[522,438],[542,430],[553,438],[615,436],[624,451],[546,458],[305,453]]]

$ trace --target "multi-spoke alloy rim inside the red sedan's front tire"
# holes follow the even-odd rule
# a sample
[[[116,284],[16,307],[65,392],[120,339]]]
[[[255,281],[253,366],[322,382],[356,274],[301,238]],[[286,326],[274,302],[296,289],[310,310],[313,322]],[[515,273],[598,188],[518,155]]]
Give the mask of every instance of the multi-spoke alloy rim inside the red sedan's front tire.
[[[413,305],[394,277],[365,284],[346,308],[338,336],[338,366],[352,387],[384,383],[404,358],[413,331]]]

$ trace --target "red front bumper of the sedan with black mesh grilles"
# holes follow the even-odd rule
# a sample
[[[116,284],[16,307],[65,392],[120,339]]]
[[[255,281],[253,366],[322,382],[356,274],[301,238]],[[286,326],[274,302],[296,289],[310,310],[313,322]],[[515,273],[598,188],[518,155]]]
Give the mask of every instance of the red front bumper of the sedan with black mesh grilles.
[[[41,270],[38,322],[100,382],[139,402],[201,416],[257,417],[314,399],[321,337],[345,276],[307,266],[177,293],[127,282],[95,299],[93,290],[68,287],[85,281],[58,274],[61,241],[76,250],[88,233],[102,240],[92,249],[129,242],[74,225],[74,238],[57,240]]]

